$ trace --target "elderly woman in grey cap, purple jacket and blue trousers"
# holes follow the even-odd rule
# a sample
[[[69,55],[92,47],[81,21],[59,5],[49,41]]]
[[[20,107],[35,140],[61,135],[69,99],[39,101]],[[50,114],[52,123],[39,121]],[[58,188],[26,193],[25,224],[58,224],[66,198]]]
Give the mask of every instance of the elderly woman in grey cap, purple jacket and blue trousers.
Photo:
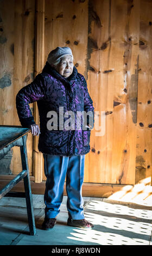
[[[35,124],[29,103],[37,101],[40,116],[40,129]],[[39,151],[43,153],[46,175],[45,220],[42,228],[49,230],[56,223],[64,194],[66,178],[67,225],[93,228],[85,220],[81,188],[84,180],[85,154],[90,151],[90,125],[84,129],[82,115],[77,129],[77,113],[93,113],[92,99],[88,94],[86,80],[73,64],[73,54],[69,47],[57,47],[48,55],[42,73],[23,87],[16,96],[18,117],[23,127],[31,127],[33,136],[39,136]],[[69,112],[70,111],[70,112]],[[55,127],[52,119],[55,115]],[[61,115],[62,113],[62,115]],[[67,113],[74,113],[72,127],[63,125],[68,121]],[[53,127],[52,127],[53,124]],[[74,127],[74,129],[73,129]],[[76,129],[75,129],[76,127]]]

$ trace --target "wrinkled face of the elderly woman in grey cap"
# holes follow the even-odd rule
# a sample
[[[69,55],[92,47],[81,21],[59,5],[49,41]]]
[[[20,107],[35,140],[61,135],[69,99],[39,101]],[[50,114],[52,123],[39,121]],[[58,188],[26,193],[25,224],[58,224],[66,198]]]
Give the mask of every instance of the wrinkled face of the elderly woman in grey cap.
[[[69,77],[73,72],[73,67],[72,56],[66,55],[61,58],[60,63],[55,66],[55,69],[61,76]]]

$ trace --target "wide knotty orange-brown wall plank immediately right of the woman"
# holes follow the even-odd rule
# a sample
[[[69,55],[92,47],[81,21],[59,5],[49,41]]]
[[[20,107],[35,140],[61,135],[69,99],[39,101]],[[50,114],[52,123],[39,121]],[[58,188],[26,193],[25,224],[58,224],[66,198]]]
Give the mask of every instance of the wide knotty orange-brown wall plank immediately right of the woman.
[[[89,5],[88,84],[95,111],[106,114],[105,135],[92,132],[88,182],[134,184],[138,1],[134,8],[122,0],[90,0]]]

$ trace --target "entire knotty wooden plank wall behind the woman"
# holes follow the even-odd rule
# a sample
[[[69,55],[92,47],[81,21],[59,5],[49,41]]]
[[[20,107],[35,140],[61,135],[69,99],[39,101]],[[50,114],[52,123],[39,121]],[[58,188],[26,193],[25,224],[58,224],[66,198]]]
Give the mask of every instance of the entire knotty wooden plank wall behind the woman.
[[[152,1],[7,0],[0,4],[1,124],[20,125],[15,108],[18,90],[42,71],[50,51],[69,46],[74,65],[87,80],[95,117],[105,120],[103,136],[96,136],[96,127],[91,131],[84,182],[134,185],[149,177]],[[31,109],[39,124],[36,103]],[[99,125],[104,126],[104,121]],[[29,134],[30,175],[41,182],[46,177],[37,145],[38,138],[33,144]],[[11,169],[16,174],[21,160],[20,149],[14,150]]]

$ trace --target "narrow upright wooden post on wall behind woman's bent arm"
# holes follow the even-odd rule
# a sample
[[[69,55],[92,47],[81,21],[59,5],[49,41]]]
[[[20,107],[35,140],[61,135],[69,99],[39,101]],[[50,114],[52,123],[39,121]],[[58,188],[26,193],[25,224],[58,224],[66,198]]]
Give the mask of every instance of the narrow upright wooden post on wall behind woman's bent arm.
[[[44,32],[45,31],[45,0],[36,1],[36,28],[35,28],[35,76],[39,74],[44,65]],[[39,111],[34,102],[34,120],[39,123]],[[35,182],[42,182],[43,157],[38,149],[39,137],[34,136],[34,176]]]

